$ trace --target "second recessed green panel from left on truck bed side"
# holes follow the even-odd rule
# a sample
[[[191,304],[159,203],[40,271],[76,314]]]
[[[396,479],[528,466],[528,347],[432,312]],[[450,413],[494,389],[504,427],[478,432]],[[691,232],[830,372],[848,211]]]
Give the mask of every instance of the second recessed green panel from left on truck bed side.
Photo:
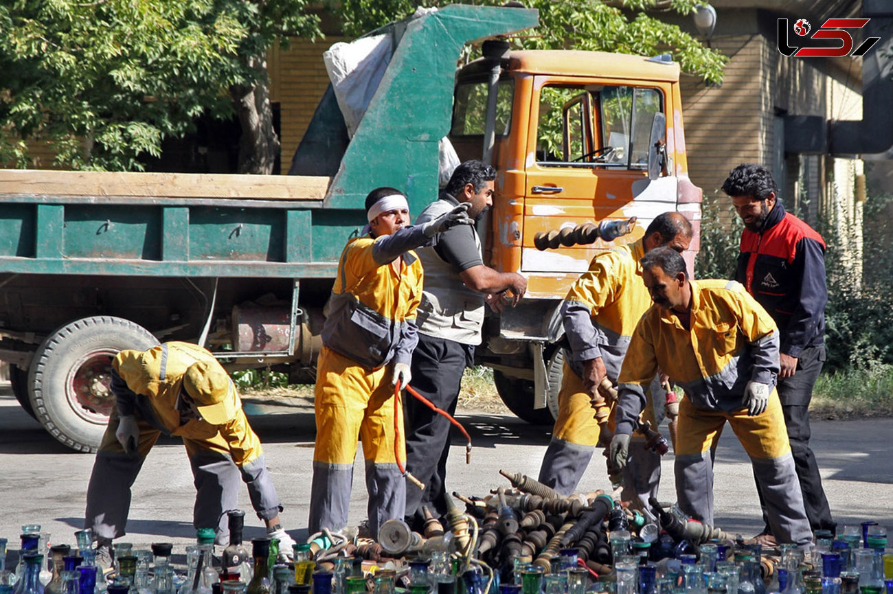
[[[152,206],[67,205],[64,253],[69,258],[161,260],[159,210]],[[97,215],[103,218],[98,218]],[[44,224],[43,216],[40,224]]]

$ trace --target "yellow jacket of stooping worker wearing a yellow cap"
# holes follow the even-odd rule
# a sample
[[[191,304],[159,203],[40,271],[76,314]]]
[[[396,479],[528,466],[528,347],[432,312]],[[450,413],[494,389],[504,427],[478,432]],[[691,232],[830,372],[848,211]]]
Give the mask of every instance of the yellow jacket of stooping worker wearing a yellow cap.
[[[233,462],[239,466],[255,460],[263,454],[263,448],[241,407],[236,417],[223,425],[199,419],[180,421],[177,398],[183,374],[189,365],[198,361],[219,365],[210,351],[189,342],[165,342],[147,351],[121,351],[112,360],[114,372],[127,384],[127,389],[121,389],[113,380],[118,414],[138,414],[168,435],[211,440],[218,447],[222,440],[230,449]],[[238,400],[238,392],[236,397]]]

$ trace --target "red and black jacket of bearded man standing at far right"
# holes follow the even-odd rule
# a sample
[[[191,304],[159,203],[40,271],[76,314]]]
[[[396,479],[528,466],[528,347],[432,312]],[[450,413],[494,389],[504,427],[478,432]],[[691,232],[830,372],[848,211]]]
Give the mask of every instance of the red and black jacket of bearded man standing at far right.
[[[825,242],[805,222],[786,213],[779,201],[763,230],[741,234],[735,280],[778,324],[781,352],[798,357],[821,345],[825,333]]]

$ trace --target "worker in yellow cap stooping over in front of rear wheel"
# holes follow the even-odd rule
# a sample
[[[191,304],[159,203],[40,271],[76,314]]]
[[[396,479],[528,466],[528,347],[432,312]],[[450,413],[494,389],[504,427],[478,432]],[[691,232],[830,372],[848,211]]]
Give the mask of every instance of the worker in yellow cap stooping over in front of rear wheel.
[[[203,347],[166,342],[147,351],[124,350],[112,360],[115,406],[87,489],[85,526],[108,552],[126,534],[130,487],[163,433],[183,438],[196,483],[193,524],[215,528],[215,542],[229,542],[224,511],[238,507],[239,478],[257,516],[282,551],[295,541],[280,525],[280,499],[263,461],[235,385]]]

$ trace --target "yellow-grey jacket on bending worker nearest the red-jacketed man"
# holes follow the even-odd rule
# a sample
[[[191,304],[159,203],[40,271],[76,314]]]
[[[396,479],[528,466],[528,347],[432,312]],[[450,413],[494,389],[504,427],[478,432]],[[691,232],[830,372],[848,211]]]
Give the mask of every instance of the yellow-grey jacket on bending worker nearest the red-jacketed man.
[[[739,282],[690,283],[689,330],[672,310],[652,305],[633,331],[620,374],[618,430],[630,424],[621,432],[630,432],[658,367],[707,410],[741,408],[748,381],[775,385],[779,332],[772,317]]]

